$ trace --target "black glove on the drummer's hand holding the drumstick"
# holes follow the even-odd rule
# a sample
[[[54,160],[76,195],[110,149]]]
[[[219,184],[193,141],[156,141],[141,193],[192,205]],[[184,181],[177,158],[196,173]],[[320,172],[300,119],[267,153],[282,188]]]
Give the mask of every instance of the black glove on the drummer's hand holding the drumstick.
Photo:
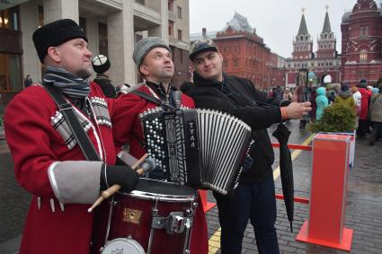
[[[138,183],[139,175],[129,166],[103,165],[101,171],[101,190],[114,184],[121,186],[120,191],[130,192]]]

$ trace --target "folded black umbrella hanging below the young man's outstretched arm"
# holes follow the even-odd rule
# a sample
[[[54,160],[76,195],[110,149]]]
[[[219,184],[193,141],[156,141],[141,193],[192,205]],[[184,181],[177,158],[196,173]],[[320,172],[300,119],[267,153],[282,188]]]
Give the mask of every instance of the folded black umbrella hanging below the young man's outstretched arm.
[[[285,208],[287,209],[288,220],[290,223],[290,232],[293,232],[292,222],[294,213],[294,184],[292,158],[288,148],[288,139],[290,131],[282,123],[272,134],[280,143],[280,175],[282,194],[284,195]]]

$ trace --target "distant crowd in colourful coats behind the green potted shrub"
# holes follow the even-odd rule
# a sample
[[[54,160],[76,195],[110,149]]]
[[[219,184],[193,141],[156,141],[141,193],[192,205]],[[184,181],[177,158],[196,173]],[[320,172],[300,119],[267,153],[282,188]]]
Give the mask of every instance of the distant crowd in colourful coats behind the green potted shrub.
[[[359,85],[349,87],[345,84],[327,84],[316,87],[309,85],[307,94],[301,92],[299,87],[291,91],[286,87],[274,87],[269,92],[271,97],[281,98],[284,101],[310,101],[312,111],[308,118],[302,118],[300,128],[304,129],[308,121],[320,120],[323,117],[324,109],[333,103],[348,106],[357,115],[357,136],[369,136],[369,145],[382,137],[382,84],[377,87],[368,85],[366,80],[360,80]]]

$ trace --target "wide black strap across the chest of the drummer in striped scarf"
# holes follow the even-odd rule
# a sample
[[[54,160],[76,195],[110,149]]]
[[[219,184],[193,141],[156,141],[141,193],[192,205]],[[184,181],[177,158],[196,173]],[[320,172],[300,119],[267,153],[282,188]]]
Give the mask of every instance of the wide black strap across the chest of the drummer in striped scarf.
[[[77,144],[80,146],[81,151],[84,153],[84,157],[88,161],[101,161],[98,154],[95,152],[92,142],[89,140],[89,136],[84,132],[84,128],[76,118],[75,111],[72,104],[67,102],[62,94],[50,83],[43,83],[44,87],[49,92],[50,96],[56,101],[59,111],[64,118],[67,119],[67,125],[70,127],[73,135],[76,138]]]

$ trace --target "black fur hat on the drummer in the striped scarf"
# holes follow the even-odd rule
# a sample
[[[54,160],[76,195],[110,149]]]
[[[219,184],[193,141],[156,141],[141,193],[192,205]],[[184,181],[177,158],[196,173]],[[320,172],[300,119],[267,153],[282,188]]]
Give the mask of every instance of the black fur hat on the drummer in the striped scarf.
[[[76,38],[82,38],[87,42],[84,31],[76,22],[69,19],[50,22],[34,31],[32,37],[41,63],[44,61],[49,47],[55,47]]]

